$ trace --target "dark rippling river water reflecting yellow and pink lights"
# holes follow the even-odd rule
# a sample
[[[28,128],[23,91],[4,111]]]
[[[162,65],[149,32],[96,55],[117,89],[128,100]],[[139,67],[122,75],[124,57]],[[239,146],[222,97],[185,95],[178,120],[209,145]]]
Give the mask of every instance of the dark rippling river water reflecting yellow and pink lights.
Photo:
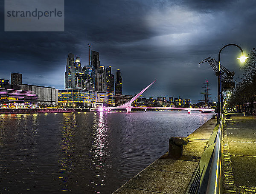
[[[211,114],[182,111],[0,115],[0,193],[119,188]]]

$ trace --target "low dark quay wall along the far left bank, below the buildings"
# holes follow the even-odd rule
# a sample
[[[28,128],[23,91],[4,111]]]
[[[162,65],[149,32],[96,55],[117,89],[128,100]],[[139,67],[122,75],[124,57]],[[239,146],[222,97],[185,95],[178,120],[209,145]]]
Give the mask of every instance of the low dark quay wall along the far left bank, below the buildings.
[[[90,112],[83,108],[0,108],[0,114],[35,114],[35,113],[63,113]]]

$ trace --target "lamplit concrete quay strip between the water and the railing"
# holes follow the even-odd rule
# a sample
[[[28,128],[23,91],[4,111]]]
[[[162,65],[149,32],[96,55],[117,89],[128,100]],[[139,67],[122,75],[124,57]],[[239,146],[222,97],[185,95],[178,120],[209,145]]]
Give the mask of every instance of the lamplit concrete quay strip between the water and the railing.
[[[184,194],[216,122],[210,119],[188,136],[182,158],[170,159],[167,152],[113,194]]]

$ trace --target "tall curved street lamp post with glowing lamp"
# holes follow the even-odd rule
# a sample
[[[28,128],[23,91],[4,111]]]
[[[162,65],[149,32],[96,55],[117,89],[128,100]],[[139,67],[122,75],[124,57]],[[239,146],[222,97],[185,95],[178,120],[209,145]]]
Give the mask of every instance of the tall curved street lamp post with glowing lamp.
[[[248,58],[248,57],[244,56],[243,49],[240,46],[236,45],[236,44],[227,44],[227,45],[223,46],[221,48],[221,50],[219,51],[219,54],[218,54],[218,75],[217,75],[218,76],[218,104],[217,104],[217,106],[218,106],[218,116],[217,116],[217,120],[221,117],[221,62],[220,62],[220,57],[221,57],[221,51],[227,46],[236,46],[241,50],[242,56],[240,58],[237,58],[241,61],[241,63],[244,63],[245,60]]]

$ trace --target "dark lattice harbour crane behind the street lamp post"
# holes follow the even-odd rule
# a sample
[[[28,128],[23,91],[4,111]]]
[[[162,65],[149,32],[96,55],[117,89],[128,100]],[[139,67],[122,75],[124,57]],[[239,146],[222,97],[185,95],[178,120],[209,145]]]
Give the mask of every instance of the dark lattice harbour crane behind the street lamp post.
[[[205,62],[209,63],[209,65],[212,67],[213,71],[215,72],[215,75],[218,76],[218,61],[216,61],[212,57],[207,57],[206,59],[202,60],[198,64],[199,67],[201,63],[205,63]],[[221,64],[220,64],[220,70],[221,70],[221,93],[230,94],[230,92],[233,92],[233,89],[235,88],[235,82],[233,80],[235,72],[229,71],[227,68],[225,68]]]

